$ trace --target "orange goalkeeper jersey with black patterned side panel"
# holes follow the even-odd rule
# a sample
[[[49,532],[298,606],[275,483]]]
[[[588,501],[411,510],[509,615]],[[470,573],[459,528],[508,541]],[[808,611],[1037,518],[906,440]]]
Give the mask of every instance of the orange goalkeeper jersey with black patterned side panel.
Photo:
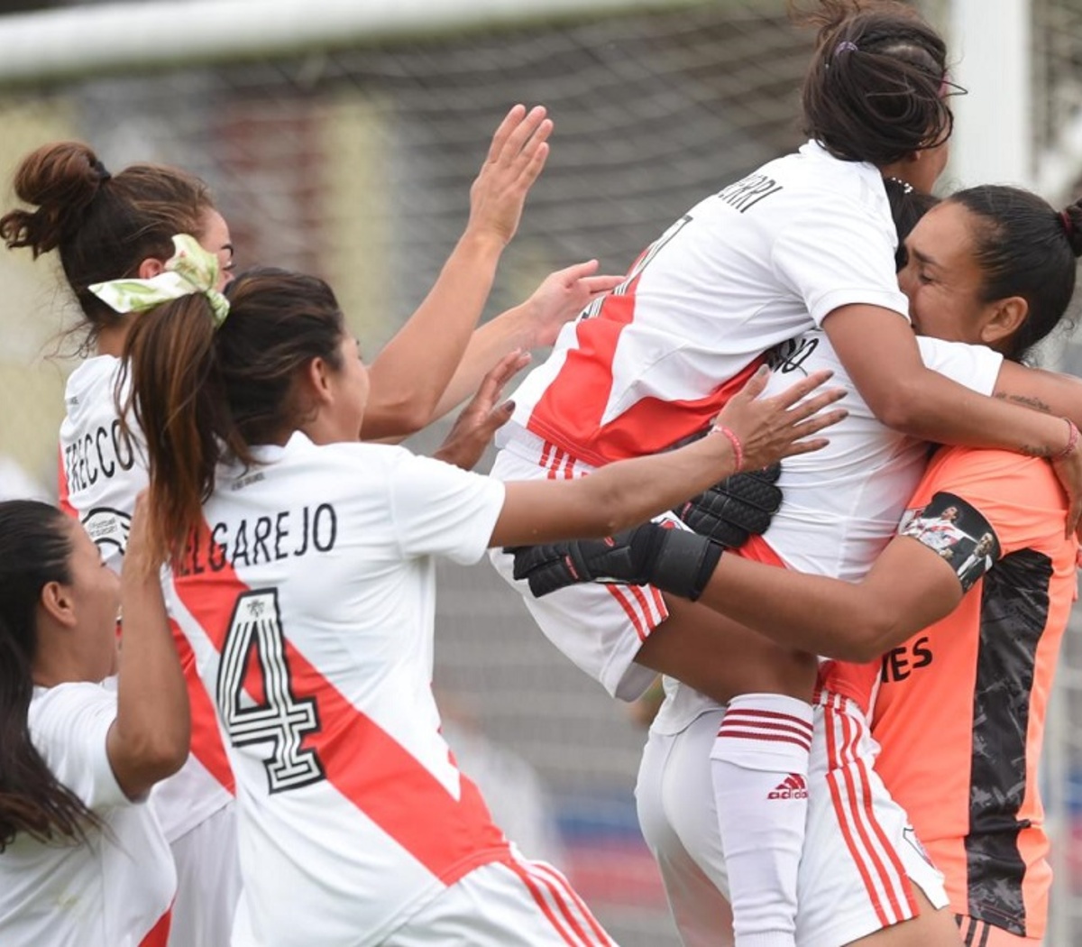
[[[1046,461],[951,447],[936,453],[911,507],[914,517],[949,510],[947,521],[976,511],[994,532],[977,552],[993,552],[955,550],[965,558],[953,564],[975,583],[951,615],[883,657],[876,770],[945,872],[952,909],[1040,938],[1052,872],[1038,764],[1076,595],[1066,498]],[[918,538],[950,558],[936,539]]]

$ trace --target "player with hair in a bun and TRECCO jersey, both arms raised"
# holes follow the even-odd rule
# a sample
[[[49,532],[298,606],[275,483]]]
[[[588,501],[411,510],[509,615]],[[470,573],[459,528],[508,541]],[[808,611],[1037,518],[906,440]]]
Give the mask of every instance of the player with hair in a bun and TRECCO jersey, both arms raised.
[[[527,113],[522,106],[497,130],[472,188],[471,216],[459,245],[421,307],[372,366],[365,436],[401,437],[423,426],[461,400],[502,354],[516,345],[550,343],[556,326],[595,292],[612,287],[612,278],[591,275],[595,264],[570,267],[471,336],[497,261],[544,163],[550,131],[543,109]],[[15,192],[32,209],[5,214],[0,234],[9,247],[29,247],[35,255],[58,250],[95,351],[67,384],[62,505],[83,522],[119,571],[135,496],[147,482],[142,438],[123,435],[114,402],[119,356],[133,317],[110,310],[89,287],[160,274],[175,233],[195,234],[216,254],[224,285],[233,257],[228,226],[201,181],[150,165],[113,175],[78,143],[45,145],[27,156],[16,172]],[[180,874],[173,943],[216,945],[227,941],[239,880],[233,776],[194,659],[184,652],[182,636],[177,644],[190,674],[193,754],[182,773],[156,789],[154,805]]]

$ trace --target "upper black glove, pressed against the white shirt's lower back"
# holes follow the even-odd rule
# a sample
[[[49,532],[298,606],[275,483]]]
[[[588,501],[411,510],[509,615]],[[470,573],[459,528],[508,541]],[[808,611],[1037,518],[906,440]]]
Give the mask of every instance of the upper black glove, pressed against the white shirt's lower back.
[[[700,536],[736,549],[749,536],[762,536],[781,505],[777,479],[781,464],[733,474],[673,512]]]

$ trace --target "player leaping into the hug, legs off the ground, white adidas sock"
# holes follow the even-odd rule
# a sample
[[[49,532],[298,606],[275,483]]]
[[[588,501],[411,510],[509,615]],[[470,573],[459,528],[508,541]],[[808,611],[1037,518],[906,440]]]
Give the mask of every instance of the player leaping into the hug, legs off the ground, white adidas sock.
[[[611,297],[563,330],[549,360],[515,393],[496,475],[573,476],[665,449],[701,431],[765,351],[813,328],[822,329],[874,417],[893,430],[1050,457],[1070,446],[1061,419],[978,397],[926,367],[898,290],[883,179],[927,192],[947,160],[942,40],[896,2],[822,0],[810,19],[819,26],[803,86],[810,141],[689,210]],[[1082,452],[1067,452],[1059,470],[1078,497]],[[493,553],[493,561],[510,580],[510,556]],[[526,604],[554,644],[611,694],[634,698],[656,671],[695,673],[672,644],[687,616],[673,614],[656,590],[573,589],[543,602],[527,596]],[[659,627],[665,633],[657,634]],[[734,853],[737,931],[752,938],[747,945],[774,936],[780,939],[771,944],[792,947],[795,902],[764,905],[758,879],[795,877],[804,802],[771,811],[763,786],[806,773],[804,741],[779,745],[769,731],[783,722],[808,732],[815,663],[792,654],[739,659],[739,712],[754,726],[742,727],[740,739],[718,737],[717,793],[761,804],[753,824],[774,823],[777,836],[771,841],[764,829],[748,844],[748,819],[730,820],[733,807],[717,806]],[[790,673],[780,679],[782,668]]]

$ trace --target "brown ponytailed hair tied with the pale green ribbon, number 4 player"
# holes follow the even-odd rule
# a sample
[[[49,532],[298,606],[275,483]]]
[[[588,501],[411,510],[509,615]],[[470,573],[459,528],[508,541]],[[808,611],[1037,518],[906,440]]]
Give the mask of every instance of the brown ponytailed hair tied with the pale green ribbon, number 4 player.
[[[304,423],[313,406],[298,393],[299,372],[314,358],[342,367],[345,321],[324,280],[254,269],[226,295],[220,328],[194,294],[141,315],[124,347],[149,461],[151,542],[163,555],[182,554],[220,461],[253,464],[252,446],[283,442]]]

